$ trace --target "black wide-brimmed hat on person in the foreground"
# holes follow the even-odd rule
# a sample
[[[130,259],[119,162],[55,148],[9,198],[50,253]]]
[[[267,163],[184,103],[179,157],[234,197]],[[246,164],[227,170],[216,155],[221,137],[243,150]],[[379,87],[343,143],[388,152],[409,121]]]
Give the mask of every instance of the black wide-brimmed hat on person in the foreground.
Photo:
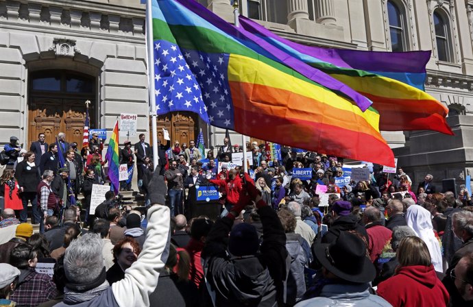
[[[333,243],[318,244],[315,257],[328,271],[348,282],[371,282],[376,277],[365,243],[350,232],[341,232]]]

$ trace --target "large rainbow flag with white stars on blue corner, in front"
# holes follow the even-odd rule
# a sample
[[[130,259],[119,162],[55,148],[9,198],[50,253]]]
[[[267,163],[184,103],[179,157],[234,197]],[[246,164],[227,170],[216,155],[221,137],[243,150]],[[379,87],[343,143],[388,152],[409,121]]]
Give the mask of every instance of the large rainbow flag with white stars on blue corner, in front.
[[[203,103],[199,112],[217,127],[393,166],[370,117],[375,111],[362,112],[349,95],[278,62],[195,1],[154,0],[152,7],[158,114]]]

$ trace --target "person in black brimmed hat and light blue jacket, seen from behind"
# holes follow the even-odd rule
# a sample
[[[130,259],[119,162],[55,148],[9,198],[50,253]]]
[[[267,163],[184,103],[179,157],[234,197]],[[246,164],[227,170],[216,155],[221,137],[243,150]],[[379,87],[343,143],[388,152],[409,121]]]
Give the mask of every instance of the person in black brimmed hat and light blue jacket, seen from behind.
[[[317,245],[315,257],[322,265],[323,277],[295,306],[391,306],[370,293],[369,282],[374,279],[376,269],[359,234],[340,232],[331,243]]]

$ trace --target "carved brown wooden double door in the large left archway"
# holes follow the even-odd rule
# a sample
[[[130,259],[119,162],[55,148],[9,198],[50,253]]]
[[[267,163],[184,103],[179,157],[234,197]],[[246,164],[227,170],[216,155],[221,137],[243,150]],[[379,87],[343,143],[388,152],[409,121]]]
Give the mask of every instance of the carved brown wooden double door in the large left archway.
[[[86,106],[84,99],[63,99],[49,97],[32,97],[29,103],[29,133],[25,147],[38,140],[38,134],[43,132],[46,143],[56,141],[59,132],[66,134],[66,141],[77,142],[82,146]],[[93,113],[93,103],[89,106],[89,114]]]

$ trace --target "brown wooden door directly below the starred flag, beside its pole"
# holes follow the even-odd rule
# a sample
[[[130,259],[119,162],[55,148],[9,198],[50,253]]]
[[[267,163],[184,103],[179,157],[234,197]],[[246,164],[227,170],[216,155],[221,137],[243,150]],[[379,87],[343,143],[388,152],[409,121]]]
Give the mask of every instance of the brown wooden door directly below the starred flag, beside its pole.
[[[159,115],[156,119],[158,127],[158,138],[162,144],[165,140],[162,135],[162,128],[166,128],[171,138],[171,146],[178,140],[180,144],[187,143],[189,140],[197,138],[197,114],[193,112],[171,112],[165,115]],[[149,131],[151,132],[151,122],[149,123]],[[150,136],[150,142],[153,142],[153,136]]]

